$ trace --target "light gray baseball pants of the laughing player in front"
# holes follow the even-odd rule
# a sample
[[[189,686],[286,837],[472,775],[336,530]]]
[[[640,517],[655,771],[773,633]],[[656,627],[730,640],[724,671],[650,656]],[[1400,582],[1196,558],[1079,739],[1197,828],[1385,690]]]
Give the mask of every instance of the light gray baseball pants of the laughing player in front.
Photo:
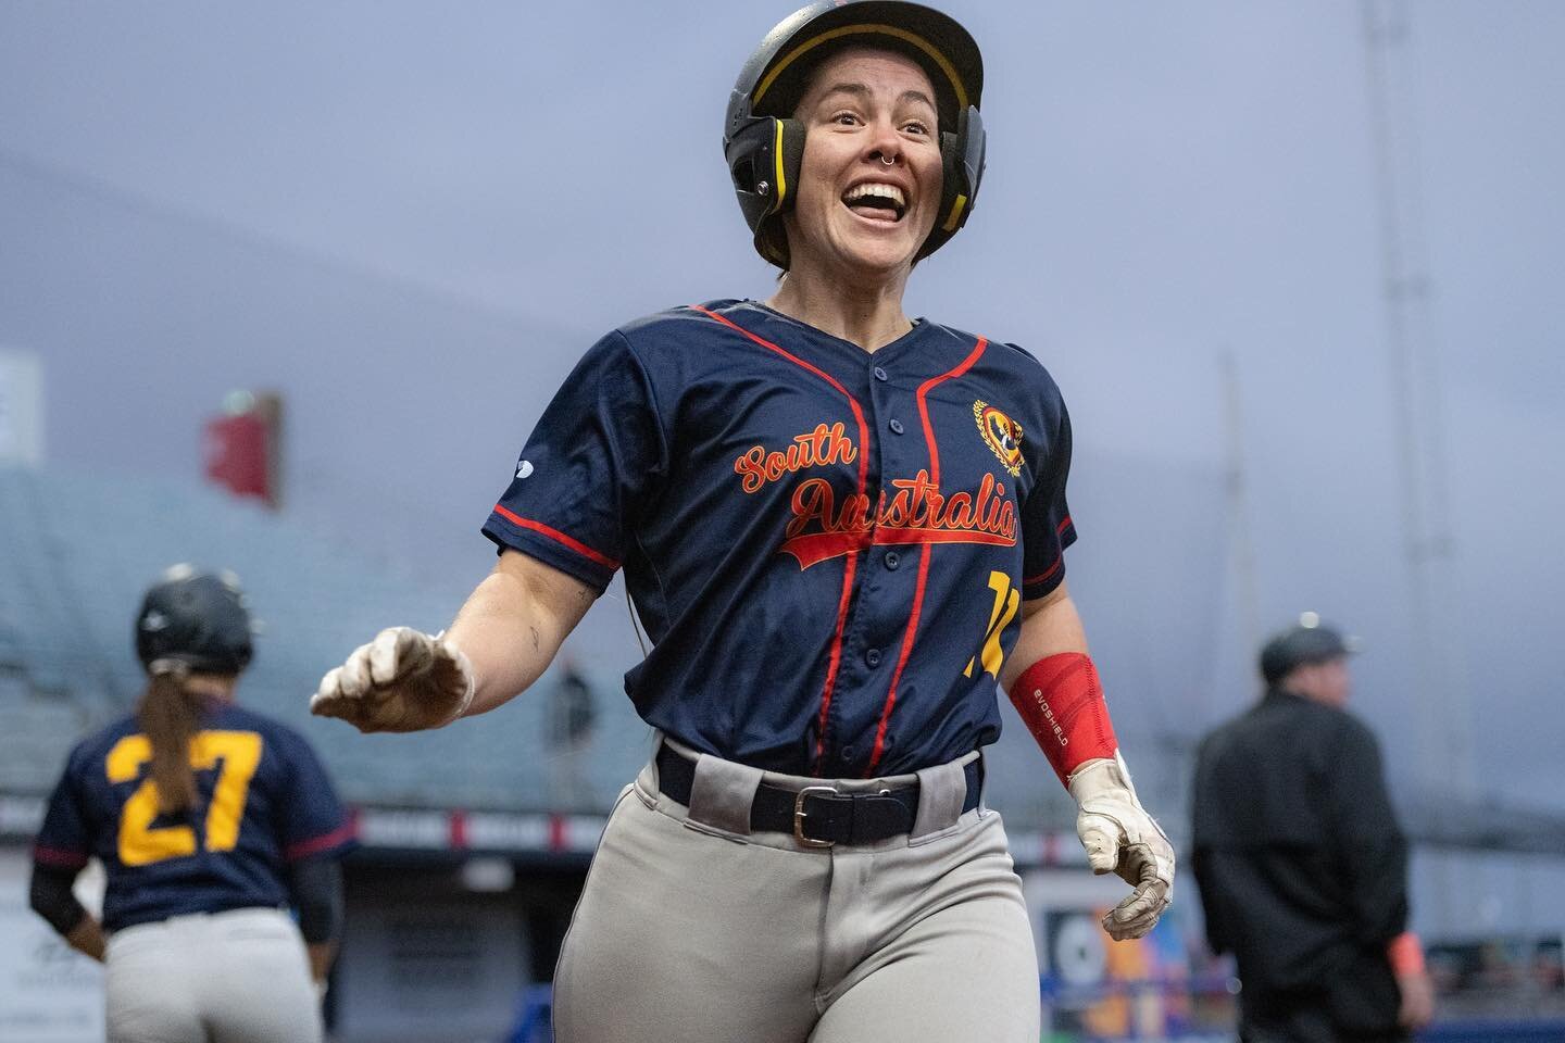
[[[559,1043],[1036,1043],[1038,959],[1000,816],[962,766],[917,774],[908,835],[812,849],[750,833],[762,774],[656,762],[620,794],[554,977]],[[914,776],[834,782],[878,790]]]

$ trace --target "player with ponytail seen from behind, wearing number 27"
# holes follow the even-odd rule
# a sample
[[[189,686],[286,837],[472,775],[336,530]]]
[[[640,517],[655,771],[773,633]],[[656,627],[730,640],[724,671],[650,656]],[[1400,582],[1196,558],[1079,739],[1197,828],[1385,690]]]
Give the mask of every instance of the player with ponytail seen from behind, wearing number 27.
[[[233,702],[250,618],[232,574],[164,574],[136,654],[136,713],[77,744],[49,799],[31,905],[106,963],[110,1043],[321,1040],[352,826],[305,740]],[[70,890],[91,857],[102,923]]]

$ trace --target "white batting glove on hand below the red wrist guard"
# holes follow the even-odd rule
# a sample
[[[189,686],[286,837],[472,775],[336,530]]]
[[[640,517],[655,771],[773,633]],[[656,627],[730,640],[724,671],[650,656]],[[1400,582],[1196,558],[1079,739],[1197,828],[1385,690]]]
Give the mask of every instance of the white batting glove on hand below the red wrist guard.
[[[1075,797],[1077,837],[1086,848],[1092,873],[1113,873],[1136,888],[1103,916],[1103,930],[1114,941],[1139,938],[1152,930],[1174,901],[1174,848],[1130,785],[1130,768],[1099,757],[1070,772]]]

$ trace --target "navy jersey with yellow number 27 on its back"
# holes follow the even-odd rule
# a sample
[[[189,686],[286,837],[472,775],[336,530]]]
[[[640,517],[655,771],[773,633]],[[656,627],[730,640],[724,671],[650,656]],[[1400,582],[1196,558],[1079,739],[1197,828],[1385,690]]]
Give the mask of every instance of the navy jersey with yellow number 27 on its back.
[[[103,860],[103,927],[182,913],[288,904],[286,865],[338,855],[354,827],[315,752],[293,729],[219,704],[191,740],[196,804],[160,815],[152,746],[127,716],[70,751],[33,860]]]

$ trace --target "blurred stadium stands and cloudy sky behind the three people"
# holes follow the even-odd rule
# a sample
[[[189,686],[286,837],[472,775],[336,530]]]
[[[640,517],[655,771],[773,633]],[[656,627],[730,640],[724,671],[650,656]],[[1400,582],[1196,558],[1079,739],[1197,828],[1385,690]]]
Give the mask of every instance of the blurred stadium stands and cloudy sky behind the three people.
[[[28,841],[139,694],[130,616],[180,560],[241,575],[241,697],[358,813],[333,1038],[537,1027],[651,743],[623,586],[490,718],[363,738],[305,702],[379,627],[449,621],[598,333],[765,296],[717,127],[787,6],[0,6],[0,1040],[102,1038]],[[1194,743],[1321,611],[1366,644],[1429,1038],[1565,1038],[1565,8],[942,6],[984,47],[991,167],[909,299],[1066,389],[1072,590],[1147,805],[1183,844]],[[1047,776],[1011,727],[991,804],[1052,1038],[1225,1038],[1194,887],[1110,946]]]

